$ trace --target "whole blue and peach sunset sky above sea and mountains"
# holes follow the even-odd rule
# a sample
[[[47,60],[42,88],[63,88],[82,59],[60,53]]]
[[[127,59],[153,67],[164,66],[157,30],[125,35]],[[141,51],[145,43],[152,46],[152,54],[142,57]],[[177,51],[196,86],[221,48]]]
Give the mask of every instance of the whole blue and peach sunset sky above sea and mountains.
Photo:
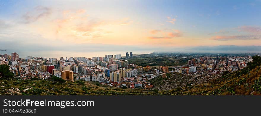
[[[261,0],[0,0],[0,49],[261,46],[260,5]]]

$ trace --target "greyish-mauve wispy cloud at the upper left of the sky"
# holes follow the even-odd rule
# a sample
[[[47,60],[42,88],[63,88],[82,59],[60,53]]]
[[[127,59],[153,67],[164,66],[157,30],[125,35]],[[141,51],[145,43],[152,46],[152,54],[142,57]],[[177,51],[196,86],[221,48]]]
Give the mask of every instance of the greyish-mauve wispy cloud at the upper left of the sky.
[[[22,23],[31,23],[39,20],[42,17],[47,17],[52,13],[49,7],[37,6],[32,11],[26,12],[22,16]]]

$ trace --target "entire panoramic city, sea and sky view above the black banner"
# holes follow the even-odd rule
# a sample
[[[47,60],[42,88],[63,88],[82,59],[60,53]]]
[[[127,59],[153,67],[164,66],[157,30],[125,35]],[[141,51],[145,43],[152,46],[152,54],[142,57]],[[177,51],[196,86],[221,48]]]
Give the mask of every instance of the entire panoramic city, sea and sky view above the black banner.
[[[260,5],[0,0],[0,95],[261,95]]]

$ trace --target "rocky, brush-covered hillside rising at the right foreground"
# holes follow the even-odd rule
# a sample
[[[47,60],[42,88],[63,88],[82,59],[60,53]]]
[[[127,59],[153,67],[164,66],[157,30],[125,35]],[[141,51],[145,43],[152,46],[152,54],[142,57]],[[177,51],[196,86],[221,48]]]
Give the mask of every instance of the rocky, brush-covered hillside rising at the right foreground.
[[[248,67],[226,75],[182,75],[168,73],[150,80],[154,91],[170,95],[261,95],[261,57],[254,56]]]

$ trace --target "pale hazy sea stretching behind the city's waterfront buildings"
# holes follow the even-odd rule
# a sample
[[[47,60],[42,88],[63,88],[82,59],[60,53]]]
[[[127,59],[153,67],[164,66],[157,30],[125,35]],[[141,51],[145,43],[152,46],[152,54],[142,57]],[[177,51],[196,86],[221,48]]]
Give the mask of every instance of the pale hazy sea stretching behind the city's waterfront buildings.
[[[26,56],[32,57],[46,57],[46,58],[60,58],[60,57],[105,57],[107,54],[121,54],[121,56],[126,56],[126,52],[132,52],[133,54],[148,54],[152,53],[153,51],[86,51],[86,52],[77,52],[77,51],[21,51],[21,50],[7,50],[7,51],[0,51],[0,54],[9,54],[11,55],[12,52],[16,52],[19,54],[20,58],[25,58]]]

